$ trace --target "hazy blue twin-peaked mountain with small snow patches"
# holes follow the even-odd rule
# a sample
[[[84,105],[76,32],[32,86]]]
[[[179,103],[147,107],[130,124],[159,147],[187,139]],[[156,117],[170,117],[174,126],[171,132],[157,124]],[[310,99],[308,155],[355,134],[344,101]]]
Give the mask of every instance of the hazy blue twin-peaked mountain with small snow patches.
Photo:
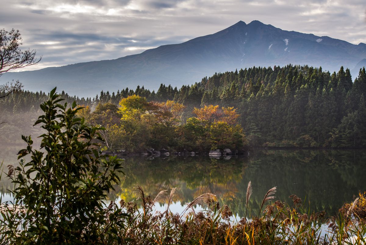
[[[308,64],[333,72],[343,65],[358,73],[355,66],[365,58],[363,43],[285,31],[258,20],[249,24],[239,21],[211,35],[115,60],[8,72],[0,83],[14,79],[27,90],[49,91],[57,85],[59,91],[69,94],[94,96],[101,90],[117,91],[138,84],[149,89],[157,89],[160,83],[179,87],[215,72],[253,66]]]

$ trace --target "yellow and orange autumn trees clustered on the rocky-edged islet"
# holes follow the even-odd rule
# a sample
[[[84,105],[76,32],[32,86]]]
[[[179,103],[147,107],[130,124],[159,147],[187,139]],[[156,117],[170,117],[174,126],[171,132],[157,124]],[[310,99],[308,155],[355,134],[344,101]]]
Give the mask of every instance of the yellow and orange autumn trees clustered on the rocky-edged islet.
[[[109,151],[143,152],[147,148],[170,151],[208,152],[211,149],[242,150],[246,138],[233,107],[208,105],[194,108],[195,117],[182,123],[184,106],[174,101],[147,102],[129,95],[117,107],[99,103],[91,112],[86,106],[78,112],[92,125],[103,125],[101,135]]]

